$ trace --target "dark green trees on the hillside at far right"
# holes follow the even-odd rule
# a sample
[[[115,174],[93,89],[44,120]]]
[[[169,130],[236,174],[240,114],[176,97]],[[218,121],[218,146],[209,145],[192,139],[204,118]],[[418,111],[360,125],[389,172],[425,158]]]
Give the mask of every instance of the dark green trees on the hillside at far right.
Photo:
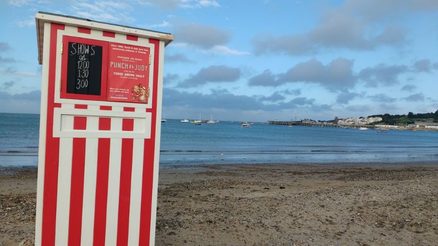
[[[407,115],[403,114],[403,115],[390,115],[390,114],[377,114],[377,115],[371,115],[368,117],[382,117],[382,121],[381,122],[374,122],[373,124],[380,124],[380,123],[385,123],[385,124],[389,124],[389,125],[393,125],[394,123],[397,122],[403,122],[403,123],[414,123],[414,121],[432,121],[435,123],[438,123],[438,110],[434,112],[430,112],[430,113],[425,113],[425,114],[414,114],[412,112],[409,112]]]

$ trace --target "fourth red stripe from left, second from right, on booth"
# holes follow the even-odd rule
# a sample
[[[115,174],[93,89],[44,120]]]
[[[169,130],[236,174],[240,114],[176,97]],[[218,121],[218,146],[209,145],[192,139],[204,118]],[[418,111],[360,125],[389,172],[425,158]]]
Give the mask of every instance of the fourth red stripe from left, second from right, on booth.
[[[130,111],[124,108],[124,111]],[[134,121],[123,119],[122,131],[132,131]],[[122,139],[122,160],[120,167],[119,214],[117,221],[117,246],[128,245],[129,206],[131,198],[133,139]]]

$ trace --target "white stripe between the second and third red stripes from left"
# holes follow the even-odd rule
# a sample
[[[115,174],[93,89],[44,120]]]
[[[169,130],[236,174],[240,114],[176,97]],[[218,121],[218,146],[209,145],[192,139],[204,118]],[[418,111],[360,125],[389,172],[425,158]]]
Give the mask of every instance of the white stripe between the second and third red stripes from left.
[[[88,109],[98,109],[98,106],[88,106]],[[99,129],[98,117],[87,117],[87,131]],[[94,231],[94,204],[96,201],[97,179],[97,146],[98,139],[87,138],[85,144],[85,169],[84,169],[84,200],[82,204],[81,245],[93,244]]]

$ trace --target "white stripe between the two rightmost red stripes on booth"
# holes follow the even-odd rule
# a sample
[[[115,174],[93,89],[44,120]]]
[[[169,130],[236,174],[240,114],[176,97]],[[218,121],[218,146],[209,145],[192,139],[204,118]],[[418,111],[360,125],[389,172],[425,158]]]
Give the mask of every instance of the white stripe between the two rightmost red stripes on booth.
[[[144,111],[143,108],[136,108]],[[143,128],[143,121],[134,120],[134,131]],[[140,211],[142,206],[142,180],[143,180],[143,153],[144,139],[134,139],[132,150],[132,173],[131,173],[131,200],[129,208],[129,234],[128,245],[138,246],[140,237]]]

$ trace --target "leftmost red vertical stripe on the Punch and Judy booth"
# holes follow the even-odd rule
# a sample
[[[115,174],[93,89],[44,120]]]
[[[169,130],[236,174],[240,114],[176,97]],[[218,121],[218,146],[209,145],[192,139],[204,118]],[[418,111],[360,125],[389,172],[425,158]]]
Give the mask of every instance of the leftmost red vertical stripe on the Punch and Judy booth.
[[[55,245],[56,226],[56,197],[58,192],[58,164],[59,138],[53,137],[53,109],[58,104],[54,102],[55,94],[55,65],[56,65],[56,36],[58,30],[64,30],[64,25],[51,24],[50,32],[50,56],[48,99],[47,99],[47,122],[46,122],[46,151],[44,163],[44,192],[42,208],[41,245]]]

